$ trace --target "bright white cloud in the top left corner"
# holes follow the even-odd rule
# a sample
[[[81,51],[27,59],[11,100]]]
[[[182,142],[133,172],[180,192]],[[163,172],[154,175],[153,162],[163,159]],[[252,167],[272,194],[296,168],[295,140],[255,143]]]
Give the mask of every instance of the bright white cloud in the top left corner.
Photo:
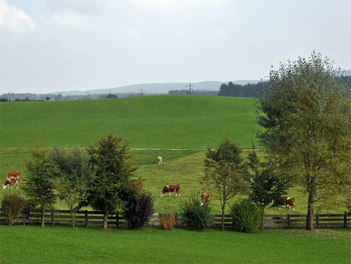
[[[9,5],[5,0],[0,0],[0,28],[24,32],[33,30],[33,19],[21,9]]]

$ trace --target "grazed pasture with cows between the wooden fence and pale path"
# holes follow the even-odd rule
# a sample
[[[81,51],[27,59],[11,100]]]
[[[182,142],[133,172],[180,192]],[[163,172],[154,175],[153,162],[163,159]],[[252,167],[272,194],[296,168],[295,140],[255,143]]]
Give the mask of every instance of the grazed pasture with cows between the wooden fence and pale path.
[[[180,212],[181,206],[189,201],[191,195],[195,195],[200,200],[200,193],[204,190],[201,185],[201,178],[204,175],[204,159],[206,158],[205,151],[183,150],[130,150],[134,157],[138,169],[135,171],[135,177],[142,179],[143,188],[148,190],[154,198],[154,209],[157,212]],[[246,156],[248,152],[243,152]],[[259,151],[258,155],[263,158],[264,152]],[[162,164],[156,164],[156,157],[163,158]],[[5,181],[8,171],[19,169],[21,170],[21,179],[26,178],[25,160],[30,158],[28,149],[2,149],[0,153],[0,178]],[[162,188],[167,184],[180,184],[180,197],[175,197],[175,193],[171,197],[160,197]],[[21,186],[20,186],[21,188]],[[20,192],[20,190],[0,190],[0,198],[5,192]],[[293,187],[288,191],[290,197],[295,198],[297,206],[295,211],[289,211],[291,214],[306,214],[307,213],[307,195],[301,187]],[[235,201],[229,200],[227,204],[227,212],[229,206]],[[210,197],[213,213],[220,213],[220,203],[213,197]],[[318,204],[316,204],[318,206]],[[63,202],[57,201],[56,209],[67,210]],[[316,212],[319,213],[343,213],[347,208],[333,207],[330,209],[319,209],[316,207]],[[288,211],[279,209],[267,211],[267,214],[285,214]]]

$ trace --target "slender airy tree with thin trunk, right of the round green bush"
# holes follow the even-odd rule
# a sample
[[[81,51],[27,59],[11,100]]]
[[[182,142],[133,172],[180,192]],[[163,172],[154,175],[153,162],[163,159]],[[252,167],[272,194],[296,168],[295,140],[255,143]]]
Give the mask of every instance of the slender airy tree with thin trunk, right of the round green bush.
[[[247,168],[240,154],[238,145],[230,142],[228,137],[219,143],[216,150],[208,150],[206,153],[205,176],[202,180],[211,196],[220,201],[222,230],[226,202],[249,189]]]

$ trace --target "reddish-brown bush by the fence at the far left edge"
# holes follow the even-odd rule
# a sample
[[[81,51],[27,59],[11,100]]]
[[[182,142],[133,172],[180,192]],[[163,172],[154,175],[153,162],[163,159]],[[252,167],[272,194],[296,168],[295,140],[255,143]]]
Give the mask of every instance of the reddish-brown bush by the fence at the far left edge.
[[[1,216],[5,218],[8,225],[13,225],[15,219],[25,206],[24,198],[18,194],[5,193],[1,198]]]

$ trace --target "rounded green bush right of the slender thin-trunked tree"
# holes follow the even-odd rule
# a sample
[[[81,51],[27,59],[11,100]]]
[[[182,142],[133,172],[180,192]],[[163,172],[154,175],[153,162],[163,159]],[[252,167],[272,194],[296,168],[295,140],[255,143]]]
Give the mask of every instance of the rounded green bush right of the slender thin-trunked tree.
[[[230,208],[234,227],[239,231],[254,233],[260,230],[262,211],[250,199],[240,199]]]

